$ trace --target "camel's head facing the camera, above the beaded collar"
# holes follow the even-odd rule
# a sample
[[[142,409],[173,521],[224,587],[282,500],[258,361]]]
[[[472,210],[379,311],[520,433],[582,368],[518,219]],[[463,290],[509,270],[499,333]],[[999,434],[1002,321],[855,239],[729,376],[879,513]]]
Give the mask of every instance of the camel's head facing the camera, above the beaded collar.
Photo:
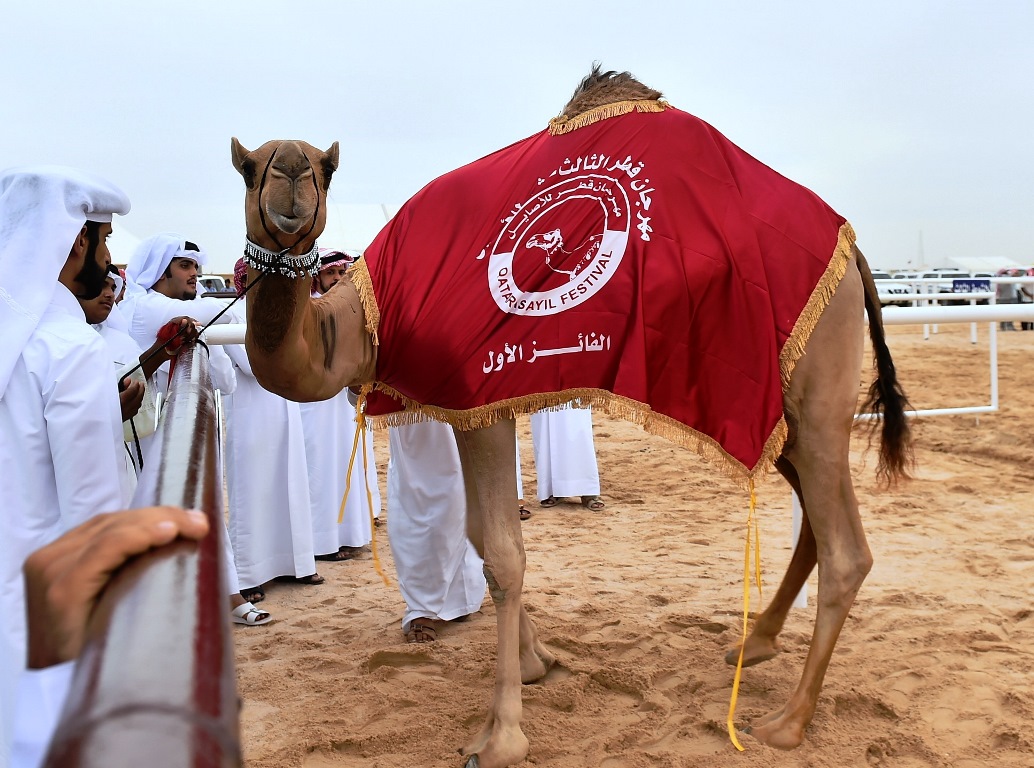
[[[234,167],[247,186],[248,239],[263,248],[304,252],[327,224],[327,190],[337,170],[338,145],[326,152],[305,142],[266,142],[246,150],[231,142]]]

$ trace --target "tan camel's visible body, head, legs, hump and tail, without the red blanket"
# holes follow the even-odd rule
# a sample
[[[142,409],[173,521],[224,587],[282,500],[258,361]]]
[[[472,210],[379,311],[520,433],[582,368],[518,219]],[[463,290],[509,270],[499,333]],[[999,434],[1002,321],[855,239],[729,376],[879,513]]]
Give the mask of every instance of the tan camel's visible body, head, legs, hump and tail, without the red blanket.
[[[601,106],[660,96],[628,72],[601,72],[597,67],[558,119],[577,119]],[[338,163],[337,144],[324,152],[303,142],[268,142],[248,151],[234,139],[232,155],[246,184],[252,265],[267,272],[247,307],[246,347],[255,376],[270,391],[299,401],[329,398],[345,387],[376,381],[378,356],[383,358],[385,349],[370,331],[361,289],[345,280],[325,297],[310,300],[310,278],[304,272],[311,264],[307,254],[323,229],[324,198]],[[648,228],[643,221],[639,231],[646,237]],[[414,259],[434,258],[426,249],[415,250],[419,252],[413,253]],[[776,444],[771,465],[802,501],[799,543],[770,604],[757,616],[746,641],[726,656],[727,663],[736,664],[741,654],[744,667],[776,656],[793,598],[818,565],[817,616],[800,682],[784,707],[742,729],[782,749],[792,749],[803,740],[837,639],[873,563],[849,467],[863,357],[863,312],[876,369],[863,408],[881,416],[880,426],[874,427],[880,432],[878,470],[893,481],[907,477],[911,461],[907,400],[884,340],[872,275],[853,241],[845,264],[846,271],[807,340],[807,354],[782,385],[787,430],[785,439]],[[260,275],[249,267],[249,283]],[[466,489],[467,533],[485,560],[498,642],[493,700],[480,732],[460,749],[466,768],[501,768],[526,757],[528,740],[520,727],[521,684],[542,679],[556,661],[522,605],[526,559],[520,522],[513,514],[515,422],[512,413],[497,416],[488,424],[455,429]]]

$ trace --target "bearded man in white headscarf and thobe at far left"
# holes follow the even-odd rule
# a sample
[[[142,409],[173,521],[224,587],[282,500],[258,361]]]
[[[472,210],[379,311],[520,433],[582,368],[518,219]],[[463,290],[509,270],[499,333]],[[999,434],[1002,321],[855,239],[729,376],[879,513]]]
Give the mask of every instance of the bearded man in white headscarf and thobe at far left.
[[[121,506],[117,381],[75,297],[100,293],[112,214],[128,211],[120,189],[84,172],[0,174],[0,765],[26,667],[22,563]]]

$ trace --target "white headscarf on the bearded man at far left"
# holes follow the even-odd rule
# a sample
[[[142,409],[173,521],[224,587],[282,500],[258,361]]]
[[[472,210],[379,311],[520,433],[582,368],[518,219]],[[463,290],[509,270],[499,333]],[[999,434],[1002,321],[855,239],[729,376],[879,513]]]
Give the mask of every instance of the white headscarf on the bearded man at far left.
[[[99,176],[59,165],[0,173],[0,398],[58,286],[87,221],[129,212],[129,198]]]

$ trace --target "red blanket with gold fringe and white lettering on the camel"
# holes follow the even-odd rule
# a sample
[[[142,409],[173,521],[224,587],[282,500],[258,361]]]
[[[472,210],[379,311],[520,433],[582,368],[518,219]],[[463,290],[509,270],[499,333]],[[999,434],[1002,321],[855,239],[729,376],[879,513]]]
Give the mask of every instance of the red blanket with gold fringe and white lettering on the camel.
[[[664,102],[553,121],[428,184],[366,250],[367,413],[468,429],[575,401],[754,477],[852,241]]]

